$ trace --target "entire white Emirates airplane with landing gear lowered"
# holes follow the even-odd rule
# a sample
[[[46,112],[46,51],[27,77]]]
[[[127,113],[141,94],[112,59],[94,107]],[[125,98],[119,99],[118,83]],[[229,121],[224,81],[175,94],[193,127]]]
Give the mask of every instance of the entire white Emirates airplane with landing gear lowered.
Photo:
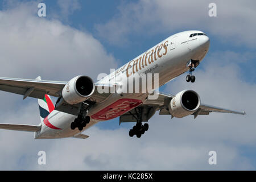
[[[82,75],[67,82],[41,80],[40,76],[35,80],[0,77],[0,90],[23,95],[23,100],[38,98],[41,119],[39,125],[0,124],[0,129],[32,131],[35,139],[85,139],[89,136],[81,133],[90,126],[119,117],[119,124],[136,123],[129,135],[140,138],[156,111],[171,118],[187,115],[196,118],[212,112],[246,114],[202,104],[199,94],[193,90],[182,90],[176,95],[156,90],[187,71],[185,80],[195,82],[192,72],[207,54],[209,44],[208,36],[202,31],[177,33],[97,82]],[[154,86],[142,92],[145,75],[147,83],[154,79]],[[133,87],[137,78],[141,82]],[[134,92],[135,89],[139,92]],[[55,105],[50,96],[57,98]]]

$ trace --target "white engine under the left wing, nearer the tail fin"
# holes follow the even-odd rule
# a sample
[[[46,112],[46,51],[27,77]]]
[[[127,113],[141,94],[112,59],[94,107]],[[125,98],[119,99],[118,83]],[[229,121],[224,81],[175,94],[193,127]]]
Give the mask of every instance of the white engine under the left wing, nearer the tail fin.
[[[92,96],[95,85],[88,76],[76,76],[66,84],[62,90],[62,96],[68,104],[84,102]]]

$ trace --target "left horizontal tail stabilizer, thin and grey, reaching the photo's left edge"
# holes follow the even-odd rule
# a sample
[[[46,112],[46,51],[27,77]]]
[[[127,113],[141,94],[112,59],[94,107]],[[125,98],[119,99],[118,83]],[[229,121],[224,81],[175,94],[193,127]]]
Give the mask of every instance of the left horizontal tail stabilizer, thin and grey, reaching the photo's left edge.
[[[16,131],[38,131],[41,126],[35,125],[17,125],[17,124],[0,124],[0,129]]]

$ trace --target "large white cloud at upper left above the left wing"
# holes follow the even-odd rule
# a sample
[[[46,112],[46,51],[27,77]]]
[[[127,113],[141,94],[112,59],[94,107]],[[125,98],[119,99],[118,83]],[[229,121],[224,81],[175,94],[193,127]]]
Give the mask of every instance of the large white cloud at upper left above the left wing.
[[[0,11],[1,76],[69,80],[89,75],[95,80],[97,73],[117,67],[88,32],[39,18],[33,7],[37,9],[26,4]]]

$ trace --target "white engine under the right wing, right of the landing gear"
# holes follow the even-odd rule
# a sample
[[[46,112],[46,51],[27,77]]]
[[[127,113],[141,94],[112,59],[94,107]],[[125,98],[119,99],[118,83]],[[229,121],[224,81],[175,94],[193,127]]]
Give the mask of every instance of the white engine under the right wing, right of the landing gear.
[[[199,94],[193,90],[183,90],[172,98],[168,109],[170,114],[176,118],[183,118],[194,113],[200,106]]]

